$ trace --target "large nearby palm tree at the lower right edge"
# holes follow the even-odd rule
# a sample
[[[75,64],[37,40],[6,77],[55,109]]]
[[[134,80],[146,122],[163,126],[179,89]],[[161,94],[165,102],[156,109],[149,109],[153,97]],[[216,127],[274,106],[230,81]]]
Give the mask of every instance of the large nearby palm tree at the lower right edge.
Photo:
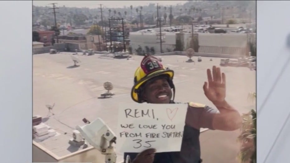
[[[253,103],[256,99],[256,93],[250,92],[248,100]],[[241,149],[238,158],[241,163],[256,163],[256,111],[251,109],[242,115],[243,122],[241,134],[238,141],[241,142]]]

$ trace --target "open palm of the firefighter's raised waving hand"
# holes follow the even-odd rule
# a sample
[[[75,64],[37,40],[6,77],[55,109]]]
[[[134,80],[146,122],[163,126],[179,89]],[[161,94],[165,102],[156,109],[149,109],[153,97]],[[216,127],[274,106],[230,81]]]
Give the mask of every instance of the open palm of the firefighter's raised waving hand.
[[[203,91],[208,100],[213,103],[222,102],[226,97],[226,76],[221,69],[213,66],[213,75],[207,69],[208,82],[204,82]]]

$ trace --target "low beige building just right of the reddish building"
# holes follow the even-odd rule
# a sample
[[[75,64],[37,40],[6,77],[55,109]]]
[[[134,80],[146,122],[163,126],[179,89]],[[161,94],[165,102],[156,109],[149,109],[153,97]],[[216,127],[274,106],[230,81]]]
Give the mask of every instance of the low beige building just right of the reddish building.
[[[58,36],[58,43],[77,43],[80,45],[80,49],[83,50],[94,49],[103,51],[105,49],[101,35],[61,35]]]

